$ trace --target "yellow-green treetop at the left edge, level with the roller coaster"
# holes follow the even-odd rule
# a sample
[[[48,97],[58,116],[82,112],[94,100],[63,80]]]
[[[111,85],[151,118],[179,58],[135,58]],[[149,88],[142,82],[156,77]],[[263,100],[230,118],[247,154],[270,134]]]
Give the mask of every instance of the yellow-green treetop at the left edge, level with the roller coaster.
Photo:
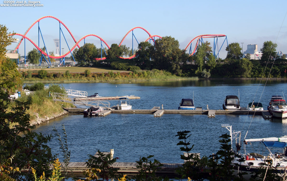
[[[15,40],[15,38],[9,36],[11,32],[8,33],[7,31],[8,28],[0,24],[0,64],[6,58],[6,47],[11,45],[11,42]]]

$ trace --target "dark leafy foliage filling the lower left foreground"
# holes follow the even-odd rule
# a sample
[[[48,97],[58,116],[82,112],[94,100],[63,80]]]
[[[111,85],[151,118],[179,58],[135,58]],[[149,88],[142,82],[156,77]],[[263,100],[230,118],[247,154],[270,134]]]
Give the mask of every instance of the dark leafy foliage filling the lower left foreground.
[[[0,163],[13,156],[12,166],[17,165],[20,171],[28,169],[27,173],[9,175],[16,180],[33,180],[32,167],[37,174],[49,174],[54,157],[46,143],[51,135],[33,131],[35,126],[30,125],[30,115],[26,113],[28,102],[16,100],[15,106],[11,106],[8,95],[2,91],[0,99]]]

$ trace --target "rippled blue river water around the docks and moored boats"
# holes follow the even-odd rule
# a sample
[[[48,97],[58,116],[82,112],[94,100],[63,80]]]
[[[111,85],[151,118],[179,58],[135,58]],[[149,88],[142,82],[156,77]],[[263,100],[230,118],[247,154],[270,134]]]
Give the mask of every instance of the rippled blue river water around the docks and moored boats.
[[[237,95],[240,105],[246,107],[253,100],[268,105],[272,95],[286,94],[286,80],[185,80],[158,82],[113,83],[63,83],[67,89],[82,90],[88,95],[135,95],[141,99],[130,100],[132,109],[151,109],[163,104],[164,109],[177,109],[183,98],[194,98],[195,107],[222,109],[226,95]],[[60,84],[61,85],[61,84]],[[264,88],[265,87],[265,88]],[[263,91],[264,89],[264,91]],[[110,101],[116,105],[118,101]],[[78,106],[81,107],[81,106]],[[287,134],[287,120],[265,120],[261,115],[216,115],[208,118],[199,114],[119,114],[105,117],[84,118],[81,114],[69,114],[36,126],[36,132],[54,134],[65,126],[71,161],[85,161],[88,154],[97,150],[114,149],[114,157],[120,162],[135,162],[139,157],[154,155],[162,163],[183,163],[175,136],[178,131],[190,130],[193,153],[209,156],[216,153],[221,134],[229,133],[221,124],[230,124],[234,131],[242,131],[243,138],[280,137]],[[249,127],[250,126],[250,127]],[[63,137],[63,134],[61,135]],[[53,153],[60,153],[57,137],[49,143]],[[61,155],[59,156],[61,158]]]

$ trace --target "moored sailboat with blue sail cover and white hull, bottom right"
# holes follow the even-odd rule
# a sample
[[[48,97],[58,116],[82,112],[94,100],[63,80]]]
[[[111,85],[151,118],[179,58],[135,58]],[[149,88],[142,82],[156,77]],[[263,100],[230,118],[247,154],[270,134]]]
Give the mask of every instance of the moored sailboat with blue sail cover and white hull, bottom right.
[[[241,152],[241,132],[232,132],[232,126],[229,124],[222,124],[221,127],[226,127],[230,131],[231,146],[232,142],[235,142],[235,147],[232,148],[232,151],[237,153],[232,163],[235,175],[245,172],[247,174],[243,177],[248,180],[254,172],[271,166],[277,166],[274,172],[280,176],[286,173],[287,136],[244,139]],[[248,145],[250,145],[250,148]],[[255,147],[258,150],[254,150]],[[249,150],[252,150],[252,152],[249,152]]]

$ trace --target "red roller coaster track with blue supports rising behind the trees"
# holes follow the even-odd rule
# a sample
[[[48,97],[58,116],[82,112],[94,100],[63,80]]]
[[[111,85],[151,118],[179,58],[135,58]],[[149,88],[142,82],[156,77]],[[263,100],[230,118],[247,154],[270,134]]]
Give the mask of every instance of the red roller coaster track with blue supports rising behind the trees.
[[[64,41],[64,43],[67,45],[67,47],[68,47],[68,49],[69,49],[69,51],[67,51],[66,53],[63,53],[63,54],[61,55],[61,51],[59,51],[59,55],[58,55],[58,56],[52,56],[52,55],[49,55],[49,54],[46,53],[46,52],[48,52],[48,51],[47,51],[47,47],[46,47],[46,45],[45,45],[44,38],[43,38],[43,35],[42,35],[42,32],[41,32],[41,28],[40,28],[40,21],[43,20],[43,19],[45,19],[45,18],[53,18],[53,19],[55,19],[55,20],[57,20],[57,21],[59,22],[59,33],[60,33],[60,34],[59,34],[59,35],[60,35],[60,38],[59,38],[59,49],[61,50],[61,43],[62,43],[62,41]],[[38,45],[36,45],[36,43],[35,43],[34,41],[32,41],[28,36],[26,36],[27,33],[31,30],[31,28],[32,28],[33,26],[37,26],[36,24],[38,25]],[[64,33],[63,33],[62,28],[65,28],[65,29],[67,30],[67,32],[69,32],[69,34],[70,34],[70,36],[71,36],[71,38],[73,39],[73,42],[74,42],[73,45],[69,45],[69,44],[67,43],[67,39],[66,39],[66,36],[65,36]],[[123,41],[125,40],[125,38],[126,38],[129,34],[131,34],[131,35],[132,35],[131,45],[132,45],[132,53],[133,53],[133,55],[130,56],[130,57],[120,57],[120,58],[122,58],[122,59],[132,59],[133,57],[135,57],[135,53],[136,53],[136,52],[133,52],[134,40],[135,40],[136,43],[137,43],[137,44],[135,44],[135,47],[137,47],[138,44],[139,44],[139,41],[137,40],[137,38],[136,38],[136,36],[135,36],[135,34],[134,34],[134,30],[135,30],[135,29],[144,30],[144,32],[147,33],[147,38],[146,38],[145,41],[149,41],[150,43],[154,43],[154,42],[155,42],[155,38],[162,38],[162,37],[159,36],[159,35],[152,35],[152,34],[150,34],[150,32],[148,32],[148,30],[146,30],[145,28],[142,28],[142,27],[134,27],[134,28],[130,29],[130,30],[125,34],[125,36],[122,38],[121,42],[119,43],[119,46],[121,46],[121,44],[123,43]],[[72,56],[72,61],[73,61],[73,63],[76,63],[75,58],[73,57],[72,51],[73,51],[76,47],[78,47],[78,48],[80,47],[80,46],[79,46],[79,43],[80,43],[80,42],[84,41],[84,44],[85,44],[85,43],[86,43],[86,42],[85,42],[85,39],[86,39],[87,37],[90,37],[90,36],[94,36],[94,37],[97,37],[97,38],[100,39],[101,57],[100,57],[100,58],[97,58],[96,60],[104,60],[104,59],[106,59],[106,57],[103,56],[103,54],[104,54],[104,55],[107,55],[107,52],[104,50],[104,45],[105,45],[108,49],[110,49],[110,46],[108,45],[108,43],[107,43],[102,37],[100,37],[100,36],[98,36],[98,35],[96,35],[96,34],[88,34],[88,35],[83,36],[83,37],[80,38],[79,40],[76,40],[75,37],[73,36],[72,32],[69,30],[69,28],[68,28],[61,20],[59,20],[58,18],[56,18],[56,17],[54,17],[54,16],[44,16],[44,17],[42,17],[42,18],[39,18],[38,20],[36,20],[36,21],[26,30],[26,32],[25,32],[24,34],[15,33],[15,34],[10,34],[10,35],[13,35],[14,37],[15,37],[15,36],[20,36],[20,38],[19,38],[20,41],[18,41],[18,44],[17,44],[17,46],[15,47],[15,49],[13,49],[13,50],[7,50],[7,52],[9,52],[9,53],[17,53],[17,55],[18,55],[19,46],[21,45],[21,43],[24,43],[24,66],[27,66],[27,64],[26,64],[26,40],[30,41],[30,42],[34,45],[34,47],[35,47],[36,49],[38,49],[39,53],[41,53],[41,58],[40,58],[40,61],[39,61],[39,62],[40,62],[39,65],[42,64],[42,61],[43,61],[43,59],[44,59],[44,61],[45,61],[44,64],[46,64],[46,65],[49,66],[49,67],[52,66],[52,63],[51,63],[50,58],[59,59],[60,61],[57,62],[57,64],[58,64],[59,66],[60,66],[60,65],[65,65],[65,57],[66,57],[67,55],[69,55],[69,54],[71,54],[71,56]],[[61,38],[61,36],[63,36],[64,39]],[[219,46],[219,41],[218,41],[220,37],[223,37],[223,38],[224,38],[224,41],[223,41],[223,43],[222,43],[221,46]],[[68,38],[70,38],[70,37],[68,36]],[[223,44],[225,43],[225,41],[226,41],[226,44],[228,45],[227,36],[226,36],[225,34],[202,34],[202,35],[198,35],[198,36],[195,36],[191,41],[189,41],[189,43],[187,44],[187,46],[186,46],[185,49],[184,49],[185,51],[189,50],[189,53],[188,53],[189,56],[192,56],[192,55],[195,53],[195,51],[196,51],[198,45],[204,43],[203,38],[213,38],[213,40],[214,40],[214,43],[213,43],[213,55],[214,55],[215,57],[219,57],[219,52],[220,52],[220,50],[222,49],[222,46],[223,46]],[[41,41],[41,43],[43,43],[45,51],[43,51],[43,50],[40,48],[40,41]],[[195,46],[194,46],[193,49],[192,49],[192,42],[195,43]],[[62,48],[62,49],[63,49],[63,48]],[[17,59],[17,64],[18,64],[18,66],[19,66],[19,59]]]

